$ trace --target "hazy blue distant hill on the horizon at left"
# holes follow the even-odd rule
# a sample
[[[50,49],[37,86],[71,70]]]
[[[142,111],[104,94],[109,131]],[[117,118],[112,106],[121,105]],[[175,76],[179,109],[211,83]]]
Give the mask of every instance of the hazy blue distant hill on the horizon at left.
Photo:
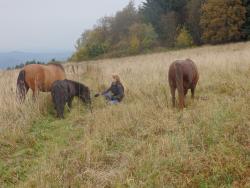
[[[25,63],[26,61],[36,60],[41,62],[48,62],[51,59],[58,61],[65,61],[71,56],[72,52],[58,52],[58,53],[30,53],[13,51],[8,53],[0,53],[0,69],[13,67],[15,65]]]

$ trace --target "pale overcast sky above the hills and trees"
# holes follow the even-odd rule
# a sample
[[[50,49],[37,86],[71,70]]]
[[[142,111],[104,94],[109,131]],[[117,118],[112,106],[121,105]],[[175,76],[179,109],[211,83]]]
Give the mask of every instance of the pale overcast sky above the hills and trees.
[[[143,0],[135,0],[139,5]],[[0,0],[0,52],[73,51],[81,33],[129,0]]]

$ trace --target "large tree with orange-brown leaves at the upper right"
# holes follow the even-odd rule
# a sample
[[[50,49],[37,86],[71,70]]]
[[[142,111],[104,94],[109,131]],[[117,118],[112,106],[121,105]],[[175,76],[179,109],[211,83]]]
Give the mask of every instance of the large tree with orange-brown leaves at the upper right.
[[[242,37],[246,8],[241,0],[207,0],[202,6],[200,25],[205,43],[220,44]]]

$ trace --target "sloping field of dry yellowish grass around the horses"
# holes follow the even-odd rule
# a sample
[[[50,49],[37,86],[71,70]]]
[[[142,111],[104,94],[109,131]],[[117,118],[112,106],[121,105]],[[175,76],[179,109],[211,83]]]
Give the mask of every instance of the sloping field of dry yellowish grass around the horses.
[[[238,43],[68,63],[92,95],[118,73],[126,98],[94,98],[93,114],[76,99],[65,120],[50,94],[16,103],[18,71],[0,72],[0,187],[250,187],[249,52]],[[185,58],[200,81],[180,112],[167,72]]]

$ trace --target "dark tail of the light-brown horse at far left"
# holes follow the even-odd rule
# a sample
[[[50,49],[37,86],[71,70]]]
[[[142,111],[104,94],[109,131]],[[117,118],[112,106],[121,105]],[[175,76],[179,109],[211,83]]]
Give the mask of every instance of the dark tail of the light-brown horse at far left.
[[[21,70],[17,78],[17,91],[16,91],[17,97],[20,101],[23,101],[25,99],[25,95],[28,89],[29,86],[25,81],[25,70]]]

